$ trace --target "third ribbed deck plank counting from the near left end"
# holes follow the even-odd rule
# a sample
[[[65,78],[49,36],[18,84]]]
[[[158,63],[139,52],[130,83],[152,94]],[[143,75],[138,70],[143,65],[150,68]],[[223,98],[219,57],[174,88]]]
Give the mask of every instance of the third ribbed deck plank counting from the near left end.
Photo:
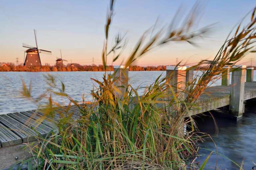
[[[35,128],[35,130],[42,135],[43,137],[45,137],[51,130],[51,127],[48,127],[47,125],[44,124],[39,124],[35,123],[35,121],[33,121],[33,119],[29,119],[29,117],[21,114],[21,113],[8,113],[8,116],[18,120],[19,122],[23,123],[24,125],[28,126],[28,127],[33,127]]]

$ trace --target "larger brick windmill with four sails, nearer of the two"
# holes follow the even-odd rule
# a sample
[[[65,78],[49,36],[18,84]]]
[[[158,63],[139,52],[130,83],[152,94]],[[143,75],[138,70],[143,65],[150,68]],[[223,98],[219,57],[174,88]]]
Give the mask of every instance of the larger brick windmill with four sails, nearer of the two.
[[[36,31],[34,29],[35,39],[36,39]],[[22,44],[22,47],[29,48],[25,52],[27,53],[26,59],[24,61],[24,66],[30,67],[30,66],[42,66],[39,53],[45,53],[45,54],[52,54],[51,51],[38,49],[37,47],[37,41],[36,41],[36,47],[33,47],[31,45]]]

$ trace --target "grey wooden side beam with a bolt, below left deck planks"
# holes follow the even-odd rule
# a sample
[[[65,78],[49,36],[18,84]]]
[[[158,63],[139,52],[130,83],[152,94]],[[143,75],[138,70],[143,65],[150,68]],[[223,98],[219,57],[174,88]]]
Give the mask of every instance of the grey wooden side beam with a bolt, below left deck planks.
[[[30,154],[28,151],[22,149],[23,146],[25,145],[16,144],[0,148],[0,169],[10,167],[17,162],[28,158]],[[15,157],[18,157],[18,159],[16,160]]]

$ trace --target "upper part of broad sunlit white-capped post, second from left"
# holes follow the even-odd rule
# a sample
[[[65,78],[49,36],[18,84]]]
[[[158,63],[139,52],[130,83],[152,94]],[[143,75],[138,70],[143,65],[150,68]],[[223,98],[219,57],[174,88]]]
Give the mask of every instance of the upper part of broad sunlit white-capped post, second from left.
[[[175,93],[182,92],[186,86],[186,66],[166,66],[166,80],[169,82],[171,88]],[[183,99],[184,93],[176,95]]]

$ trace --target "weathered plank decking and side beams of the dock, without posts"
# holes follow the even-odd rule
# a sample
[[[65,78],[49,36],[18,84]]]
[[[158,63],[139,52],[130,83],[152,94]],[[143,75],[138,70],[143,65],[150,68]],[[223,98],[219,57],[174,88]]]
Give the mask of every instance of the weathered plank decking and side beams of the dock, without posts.
[[[229,81],[229,80],[228,80]],[[200,114],[213,109],[230,105],[230,92],[234,85],[221,85],[208,87],[198,100],[200,109],[190,110],[190,115]],[[256,82],[244,82],[244,94],[242,102],[256,98]],[[231,107],[231,106],[230,106]],[[63,112],[57,109],[57,112]],[[81,115],[76,106],[71,106],[69,113],[73,113],[72,118],[77,119]],[[22,143],[35,141],[37,136],[33,128],[45,137],[49,132],[54,130],[54,125],[48,120],[43,120],[39,126],[37,120],[43,116],[40,111],[23,111],[16,113],[8,113],[0,115],[0,157],[4,157],[0,161],[0,169],[9,167],[14,163],[25,159],[29,156],[27,151],[19,150]],[[59,119],[60,115],[56,114],[54,119]],[[33,127],[33,128],[31,128]],[[30,134],[30,136],[28,135]]]

